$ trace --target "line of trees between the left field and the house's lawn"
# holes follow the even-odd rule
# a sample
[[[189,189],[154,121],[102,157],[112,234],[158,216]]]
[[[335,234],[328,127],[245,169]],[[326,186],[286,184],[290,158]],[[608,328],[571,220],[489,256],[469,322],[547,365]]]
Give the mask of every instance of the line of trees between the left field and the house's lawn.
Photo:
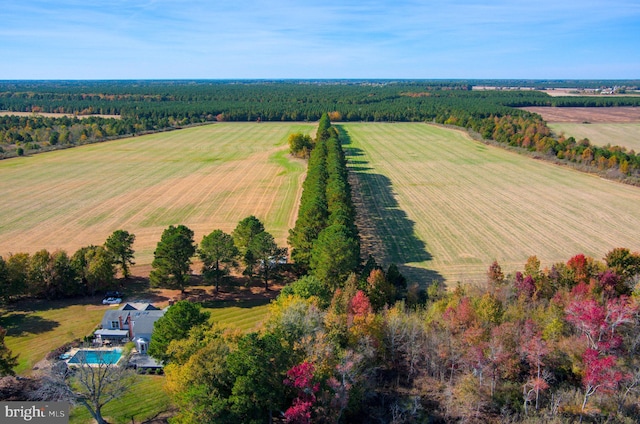
[[[64,250],[46,249],[0,256],[0,302],[11,303],[25,297],[51,300],[93,296],[116,290],[120,284],[117,272],[125,279],[131,275],[134,241],[134,234],[116,230],[103,245],[81,247],[71,256]],[[150,284],[184,292],[191,281],[192,259],[196,255],[202,261],[204,283],[215,285],[216,290],[240,262],[244,274],[250,279],[259,277],[268,290],[269,282],[279,278],[278,268],[286,262],[287,249],[276,244],[255,216],[240,221],[231,235],[212,231],[199,245],[190,228],[170,225],[154,251]]]

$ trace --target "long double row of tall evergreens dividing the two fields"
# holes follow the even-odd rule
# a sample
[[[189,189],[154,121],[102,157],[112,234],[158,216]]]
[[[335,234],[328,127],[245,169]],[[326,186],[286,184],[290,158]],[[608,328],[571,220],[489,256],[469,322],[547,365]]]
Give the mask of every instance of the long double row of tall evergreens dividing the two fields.
[[[288,241],[291,258],[332,288],[360,261],[346,159],[327,114],[318,123],[298,219]]]

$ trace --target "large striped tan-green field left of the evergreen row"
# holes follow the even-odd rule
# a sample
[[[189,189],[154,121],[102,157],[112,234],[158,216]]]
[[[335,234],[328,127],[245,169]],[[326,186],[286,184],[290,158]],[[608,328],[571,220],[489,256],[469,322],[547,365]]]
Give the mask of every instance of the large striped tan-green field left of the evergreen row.
[[[0,161],[0,255],[72,254],[125,229],[148,265],[171,224],[200,242],[252,214],[284,245],[306,167],[288,156],[287,137],[314,128],[216,123]]]

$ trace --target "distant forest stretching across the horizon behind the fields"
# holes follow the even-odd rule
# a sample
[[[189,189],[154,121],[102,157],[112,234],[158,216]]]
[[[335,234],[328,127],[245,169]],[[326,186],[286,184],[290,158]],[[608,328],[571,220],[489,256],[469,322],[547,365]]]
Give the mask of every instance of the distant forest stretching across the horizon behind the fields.
[[[0,82],[0,110],[69,117],[0,117],[0,157],[219,121],[431,122],[534,152],[587,172],[640,183],[640,156],[556,137],[526,106],[638,106],[640,97],[551,97],[534,90],[473,91],[476,83],[531,81],[59,81]],[[553,82],[539,82],[553,87]],[[556,82],[560,84],[560,81]],[[608,81],[582,82],[602,87]],[[621,84],[622,82],[616,82]],[[637,81],[626,81],[629,88]],[[535,86],[535,84],[533,84]],[[98,117],[116,115],[116,117]]]

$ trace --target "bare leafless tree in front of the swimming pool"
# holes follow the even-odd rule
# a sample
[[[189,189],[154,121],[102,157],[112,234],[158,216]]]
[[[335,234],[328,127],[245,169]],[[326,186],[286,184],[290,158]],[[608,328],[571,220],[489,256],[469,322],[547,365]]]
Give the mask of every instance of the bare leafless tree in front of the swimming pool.
[[[111,363],[105,351],[95,350],[97,361],[89,363],[87,355],[76,355],[78,362],[68,366],[64,362],[54,365],[42,377],[39,388],[33,392],[33,400],[66,400],[83,405],[98,424],[106,424],[102,408],[112,400],[124,395],[135,381],[136,373],[127,368],[128,355]],[[95,363],[94,363],[95,362]]]

